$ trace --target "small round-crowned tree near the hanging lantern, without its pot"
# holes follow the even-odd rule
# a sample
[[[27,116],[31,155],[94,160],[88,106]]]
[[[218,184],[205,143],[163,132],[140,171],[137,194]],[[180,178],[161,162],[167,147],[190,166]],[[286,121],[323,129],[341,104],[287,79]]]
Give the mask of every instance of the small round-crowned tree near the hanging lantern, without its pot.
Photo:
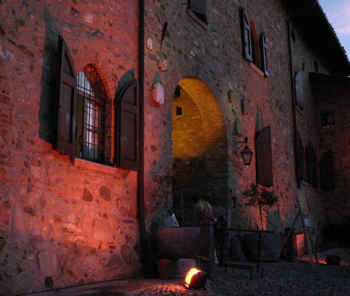
[[[262,210],[267,211],[278,203],[278,197],[273,191],[268,191],[265,188],[259,189],[258,184],[251,183],[250,188],[242,192],[243,197],[248,199],[246,206],[259,208],[261,229],[264,229],[262,224]]]

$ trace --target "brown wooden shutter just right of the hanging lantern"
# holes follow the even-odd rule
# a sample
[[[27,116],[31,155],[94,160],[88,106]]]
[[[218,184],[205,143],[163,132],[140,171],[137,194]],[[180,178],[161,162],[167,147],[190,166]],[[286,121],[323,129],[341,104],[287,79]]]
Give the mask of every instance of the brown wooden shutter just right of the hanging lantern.
[[[255,138],[255,159],[257,183],[265,186],[273,185],[271,129],[268,125]]]

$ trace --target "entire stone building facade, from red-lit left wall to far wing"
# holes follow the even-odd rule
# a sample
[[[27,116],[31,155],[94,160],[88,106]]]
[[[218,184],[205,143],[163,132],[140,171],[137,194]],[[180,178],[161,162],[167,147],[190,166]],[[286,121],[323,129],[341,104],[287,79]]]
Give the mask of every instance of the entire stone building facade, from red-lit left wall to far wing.
[[[141,224],[152,262],[154,231],[171,226],[169,213],[179,207],[171,194],[157,192],[153,181],[172,167],[175,157],[205,157],[210,173],[205,198],[216,217],[222,215],[230,226],[260,228],[259,212],[246,207],[241,197],[256,182],[259,164],[255,157],[250,166],[243,164],[238,142],[248,137],[255,156],[255,138],[264,128],[271,130],[273,172],[266,188],[279,198],[278,206],[264,213],[264,229],[282,232],[290,226],[298,211],[297,186],[304,189],[316,231],[318,221],[333,221],[336,215],[330,217],[327,211],[325,218],[323,209],[326,205],[336,213],[346,201],[349,169],[342,164],[348,160],[349,108],[339,110],[323,88],[330,93],[336,88],[343,106],[348,106],[344,77],[350,74],[350,65],[321,8],[314,1],[304,2],[309,5],[305,9],[314,9],[311,21],[325,26],[337,56],[311,46],[314,42],[302,29],[310,20],[303,19],[303,7],[298,10],[294,1],[232,0],[219,5],[207,0],[204,11],[203,6],[196,9],[194,0],[186,5],[146,1],[144,51],[138,48],[139,1],[0,1],[0,293],[45,290],[48,279],[58,288],[142,275],[141,252],[146,250],[141,250]],[[242,34],[245,24],[249,35]],[[88,72],[82,81],[97,85],[96,97],[104,94],[105,153],[99,159],[103,164],[80,154],[78,144],[73,144],[71,157],[52,149],[59,35],[70,53],[70,58],[64,57],[71,62],[68,72],[74,79],[86,66],[98,73],[98,83],[84,78]],[[251,39],[252,61],[242,38]],[[116,161],[117,146],[123,144],[116,135],[123,131],[113,103],[118,105],[125,85],[140,80],[138,58],[143,52],[144,171],[137,172]],[[167,61],[165,71],[158,67],[159,59]],[[299,92],[294,89],[299,70],[302,108],[294,104],[300,99],[300,87]],[[153,98],[157,82],[164,90],[162,105]],[[78,97],[89,94],[91,99],[92,88],[76,89]],[[335,127],[322,129],[322,114],[332,112]],[[94,123],[85,124],[88,135],[96,132]],[[84,136],[74,137],[79,143]],[[347,148],[339,145],[344,141]],[[299,147],[294,149],[295,145]],[[329,149],[341,155],[334,161],[337,181],[332,190],[321,190],[321,183],[311,181],[321,179],[319,161]],[[306,150],[314,151],[316,166]],[[137,202],[140,175],[145,221],[137,217],[142,207]],[[336,207],[334,196],[339,201]],[[186,198],[190,215],[192,204]],[[301,227],[299,221],[296,228]]]

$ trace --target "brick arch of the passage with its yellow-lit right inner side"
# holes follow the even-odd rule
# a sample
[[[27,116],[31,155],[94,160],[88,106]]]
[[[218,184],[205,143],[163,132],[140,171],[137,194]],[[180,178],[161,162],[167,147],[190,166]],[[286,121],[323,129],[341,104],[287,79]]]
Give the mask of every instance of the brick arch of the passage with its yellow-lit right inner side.
[[[219,91],[216,86],[212,85],[215,80],[210,76],[198,66],[184,66],[171,73],[165,91],[172,95],[176,85],[180,85],[196,104],[201,114],[205,133],[205,156],[211,175],[210,202],[216,207],[225,208],[229,192],[228,134],[224,116],[216,99],[220,97]],[[172,97],[169,98],[169,101],[172,101]]]

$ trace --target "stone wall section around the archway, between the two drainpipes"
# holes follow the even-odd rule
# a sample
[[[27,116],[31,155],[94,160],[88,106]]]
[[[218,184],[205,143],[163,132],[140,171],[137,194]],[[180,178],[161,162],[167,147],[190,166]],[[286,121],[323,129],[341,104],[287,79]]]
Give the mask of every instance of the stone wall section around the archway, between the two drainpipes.
[[[216,151],[223,167],[221,191],[212,195],[215,215],[223,215],[230,225],[256,228],[259,213],[245,207],[241,192],[255,182],[255,159],[245,167],[237,141],[247,136],[248,146],[254,152],[254,136],[258,129],[270,125],[272,130],[272,154],[274,185],[270,188],[280,197],[279,206],[264,215],[267,228],[282,230],[293,221],[295,208],[295,168],[292,132],[292,109],[289,85],[286,12],[279,1],[233,1],[216,5],[207,1],[209,25],[200,24],[187,9],[178,2],[146,3],[146,38],[152,38],[153,50],[146,50],[145,87],[145,158],[146,198],[148,215],[153,217],[153,204],[161,204],[151,197],[153,174],[164,172],[171,166],[172,101],[175,87],[183,78],[194,77],[202,81],[215,97],[224,122],[227,143],[224,155]],[[265,31],[268,46],[269,78],[262,77],[242,56],[240,5],[246,8],[250,20],[254,21],[257,34]],[[260,7],[267,7],[261,10]],[[268,21],[267,21],[268,20]],[[165,39],[161,32],[168,22]],[[168,66],[161,72],[156,61],[166,57]],[[152,84],[161,82],[165,90],[165,103],[157,106],[152,101]],[[192,91],[198,85],[192,85]],[[228,97],[232,90],[231,101]],[[190,94],[188,88],[186,92]],[[247,114],[242,114],[241,98],[246,99]],[[193,96],[191,96],[193,98]],[[207,102],[195,101],[198,109]],[[209,103],[209,102],[208,102]],[[206,105],[205,105],[206,106]],[[203,114],[201,114],[203,118]],[[212,116],[205,114],[205,116]],[[216,121],[214,117],[214,121]],[[242,137],[234,134],[234,122],[241,121]],[[162,123],[162,124],[159,124]],[[156,127],[153,129],[153,127]],[[205,129],[205,128],[204,128]],[[173,139],[174,140],[174,139]],[[151,145],[155,147],[149,149]],[[213,150],[218,145],[212,144]],[[213,187],[214,188],[214,187]],[[214,191],[217,191],[215,188]],[[218,192],[218,191],[217,191]],[[171,201],[166,206],[171,208]],[[151,219],[149,223],[151,223]],[[160,221],[159,221],[160,222]]]

